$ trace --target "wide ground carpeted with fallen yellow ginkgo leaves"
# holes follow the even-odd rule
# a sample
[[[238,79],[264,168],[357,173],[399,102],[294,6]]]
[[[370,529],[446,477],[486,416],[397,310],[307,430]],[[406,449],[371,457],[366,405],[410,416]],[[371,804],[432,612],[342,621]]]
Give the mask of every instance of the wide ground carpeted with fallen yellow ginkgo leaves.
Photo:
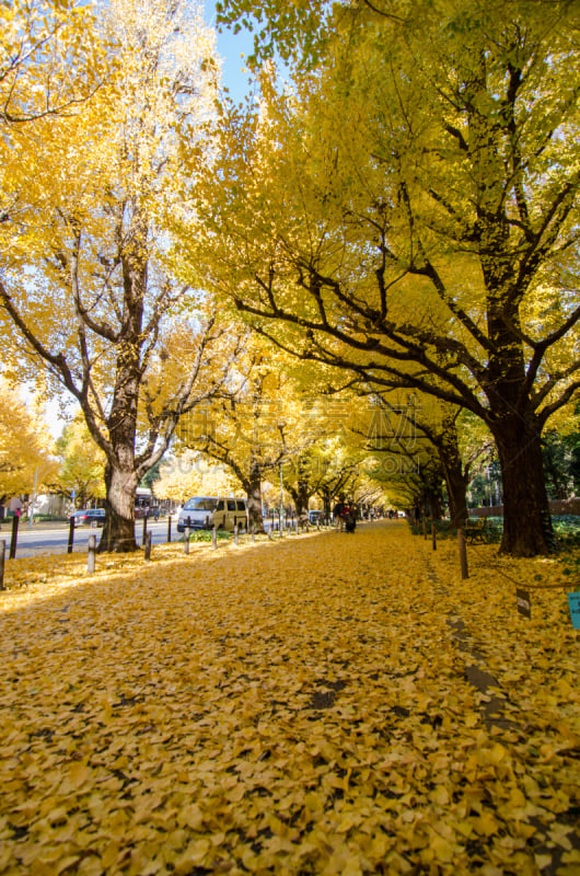
[[[578,633],[558,564],[496,550],[11,566],[0,873],[578,876]]]

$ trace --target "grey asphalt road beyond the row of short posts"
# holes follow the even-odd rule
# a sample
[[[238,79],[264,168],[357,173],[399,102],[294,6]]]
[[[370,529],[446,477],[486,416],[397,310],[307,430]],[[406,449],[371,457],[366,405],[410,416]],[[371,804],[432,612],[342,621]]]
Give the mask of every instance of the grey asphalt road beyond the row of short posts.
[[[172,520],[171,538],[172,541],[177,541],[183,538],[176,529],[176,520]],[[151,532],[153,544],[164,544],[167,541],[167,518],[155,522],[154,520],[147,521],[147,530]],[[89,537],[96,535],[96,543],[101,539],[101,529],[93,529],[92,527],[78,527],[74,529],[74,553],[86,553],[89,548]],[[4,523],[0,531],[0,541],[5,541],[5,556],[10,550],[12,528]],[[138,520],[135,525],[135,535],[137,543],[141,544],[143,534],[143,521]],[[16,544],[16,557],[19,556],[37,556],[40,554],[63,554],[67,553],[69,543],[69,527],[67,525],[55,526],[50,528],[42,523],[28,527],[27,522],[22,523],[19,528],[19,538]]]

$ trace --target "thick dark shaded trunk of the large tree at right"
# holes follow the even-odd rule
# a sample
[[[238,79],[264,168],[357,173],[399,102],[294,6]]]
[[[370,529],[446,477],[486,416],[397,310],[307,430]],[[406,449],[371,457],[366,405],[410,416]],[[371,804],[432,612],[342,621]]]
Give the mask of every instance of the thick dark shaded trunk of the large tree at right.
[[[547,554],[553,543],[541,427],[518,414],[503,416],[491,429],[503,480],[503,538],[500,553]]]

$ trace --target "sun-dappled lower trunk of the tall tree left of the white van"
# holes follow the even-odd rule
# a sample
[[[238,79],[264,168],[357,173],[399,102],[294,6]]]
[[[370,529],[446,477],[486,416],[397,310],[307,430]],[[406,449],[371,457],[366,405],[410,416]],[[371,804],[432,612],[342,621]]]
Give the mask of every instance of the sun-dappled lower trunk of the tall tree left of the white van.
[[[138,486],[135,472],[105,466],[105,526],[98,552],[129,553],[137,550],[135,540],[135,494]]]

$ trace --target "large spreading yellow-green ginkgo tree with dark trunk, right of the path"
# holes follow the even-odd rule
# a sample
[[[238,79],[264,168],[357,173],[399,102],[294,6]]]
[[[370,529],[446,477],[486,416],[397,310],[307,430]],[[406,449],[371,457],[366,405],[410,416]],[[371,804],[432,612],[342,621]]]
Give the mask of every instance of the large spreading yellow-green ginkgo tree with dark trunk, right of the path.
[[[549,550],[541,436],[580,388],[572,9],[334,7],[324,64],[227,119],[190,251],[283,349],[479,417],[514,555]]]

